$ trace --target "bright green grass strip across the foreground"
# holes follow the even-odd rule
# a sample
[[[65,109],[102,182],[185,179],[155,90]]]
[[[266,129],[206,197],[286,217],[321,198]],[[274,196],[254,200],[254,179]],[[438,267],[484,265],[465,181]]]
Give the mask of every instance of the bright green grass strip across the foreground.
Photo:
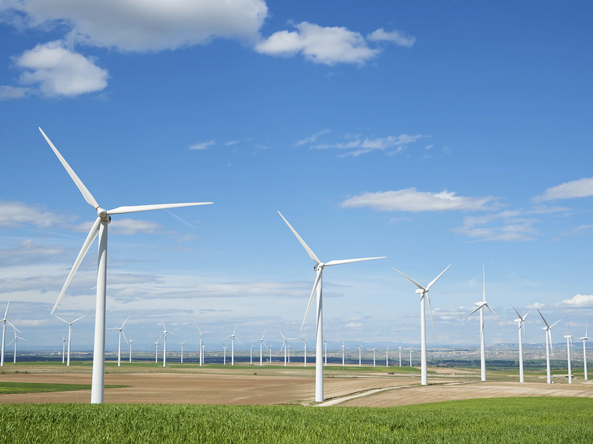
[[[592,407],[564,397],[391,408],[4,404],[0,443],[585,443]]]

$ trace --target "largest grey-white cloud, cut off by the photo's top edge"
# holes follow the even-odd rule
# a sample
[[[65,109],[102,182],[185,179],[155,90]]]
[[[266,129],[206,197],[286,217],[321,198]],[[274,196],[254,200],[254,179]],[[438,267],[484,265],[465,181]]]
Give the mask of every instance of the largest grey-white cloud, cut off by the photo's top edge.
[[[0,8],[21,25],[66,25],[69,41],[142,52],[214,37],[255,42],[267,16],[264,0],[5,0]]]

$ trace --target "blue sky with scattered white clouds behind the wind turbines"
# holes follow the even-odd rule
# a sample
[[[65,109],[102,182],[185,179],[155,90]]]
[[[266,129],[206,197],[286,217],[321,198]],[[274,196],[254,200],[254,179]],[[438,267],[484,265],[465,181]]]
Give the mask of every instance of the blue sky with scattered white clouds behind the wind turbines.
[[[417,343],[390,267],[427,283],[449,263],[438,343],[479,341],[482,264],[507,322],[486,317],[488,343],[516,341],[509,302],[584,330],[586,2],[0,5],[0,302],[27,346],[61,343],[49,311],[95,217],[38,126],[103,207],[214,202],[113,218],[107,324],[132,315],[139,347],[161,317],[212,347],[235,323],[244,343],[313,333],[314,263],[276,210],[321,260],[387,256],[326,270],[328,340]],[[74,349],[92,345],[95,248],[56,312],[88,314]]]

